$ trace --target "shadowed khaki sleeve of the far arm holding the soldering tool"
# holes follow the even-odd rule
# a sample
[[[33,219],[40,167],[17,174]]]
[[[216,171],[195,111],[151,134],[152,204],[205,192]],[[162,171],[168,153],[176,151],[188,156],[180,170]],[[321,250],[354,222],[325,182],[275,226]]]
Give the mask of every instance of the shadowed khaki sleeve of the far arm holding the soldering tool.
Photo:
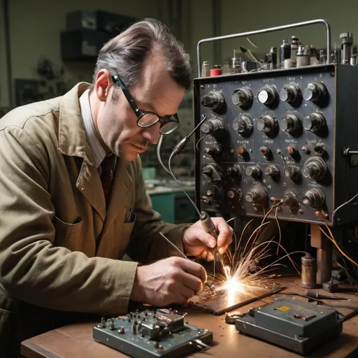
[[[142,176],[141,160],[136,162],[136,223],[131,234],[127,254],[141,264],[148,264],[159,259],[179,256],[177,250],[166,242],[160,231],[181,251],[182,236],[189,224],[169,224],[163,222],[159,213],[152,208],[152,201],[145,189]]]

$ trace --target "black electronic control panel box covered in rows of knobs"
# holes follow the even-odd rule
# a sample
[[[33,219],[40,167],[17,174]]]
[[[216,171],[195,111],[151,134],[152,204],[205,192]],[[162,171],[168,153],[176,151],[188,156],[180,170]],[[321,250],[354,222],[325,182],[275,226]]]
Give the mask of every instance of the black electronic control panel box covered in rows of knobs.
[[[318,65],[194,80],[201,210],[322,223],[357,220],[358,68]],[[350,148],[350,149],[348,149]]]

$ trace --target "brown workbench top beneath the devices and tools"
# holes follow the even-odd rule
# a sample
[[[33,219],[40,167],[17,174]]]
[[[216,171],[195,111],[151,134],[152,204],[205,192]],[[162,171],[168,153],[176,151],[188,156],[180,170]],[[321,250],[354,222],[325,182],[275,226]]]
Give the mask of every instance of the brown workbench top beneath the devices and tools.
[[[293,279],[288,282],[280,282],[287,287],[282,293],[286,292],[300,292],[302,289],[292,285]],[[296,281],[297,282],[297,281]],[[319,290],[322,294],[327,294]],[[343,294],[336,294],[343,296]],[[344,296],[348,296],[344,294]],[[350,298],[355,299],[354,294],[349,295]],[[299,297],[297,297],[299,299]],[[270,298],[264,299],[270,302]],[[358,301],[358,300],[356,300]],[[334,301],[334,304],[346,304],[348,301]],[[332,303],[327,301],[327,303]],[[262,301],[250,303],[247,306],[238,308],[231,313],[244,313],[251,307],[262,306]],[[332,303],[333,304],[333,303]],[[357,306],[357,303],[355,303]],[[351,310],[339,309],[344,315],[352,312]],[[238,333],[234,325],[225,323],[225,315],[210,315],[195,308],[185,308],[183,312],[187,312],[187,320],[189,324],[210,329],[213,331],[214,344],[206,352],[196,352],[192,357],[240,357],[240,358],[259,358],[259,357],[275,357],[275,358],[293,358],[301,357],[293,352],[283,350],[274,345],[258,341],[255,338],[244,336]],[[97,343],[92,338],[92,328],[99,322],[87,322],[71,324],[45,334],[28,339],[22,342],[21,353],[26,358],[120,358],[127,357],[122,353],[106,347],[101,343]],[[307,357],[347,357],[354,350],[358,349],[358,315],[352,317],[347,322],[343,323],[343,332],[336,338],[319,349],[314,350]],[[350,357],[358,357],[357,353],[353,353]]]

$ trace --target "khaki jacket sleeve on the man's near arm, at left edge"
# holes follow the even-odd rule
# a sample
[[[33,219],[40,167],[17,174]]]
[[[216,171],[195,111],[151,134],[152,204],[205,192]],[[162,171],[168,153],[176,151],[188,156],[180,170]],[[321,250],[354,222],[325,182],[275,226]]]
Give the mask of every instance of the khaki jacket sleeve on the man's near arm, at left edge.
[[[124,313],[135,262],[89,258],[52,245],[49,155],[39,143],[20,127],[0,131],[0,289],[55,310]]]

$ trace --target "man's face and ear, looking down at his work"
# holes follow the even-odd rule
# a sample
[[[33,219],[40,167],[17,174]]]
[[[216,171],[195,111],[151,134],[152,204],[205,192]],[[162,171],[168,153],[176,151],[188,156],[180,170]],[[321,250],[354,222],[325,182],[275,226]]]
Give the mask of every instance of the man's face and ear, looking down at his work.
[[[151,110],[162,117],[177,113],[185,94],[185,89],[171,79],[164,60],[159,56],[148,59],[143,66],[141,80],[127,89],[141,110]],[[95,101],[98,107],[92,108],[94,126],[108,152],[132,162],[150,144],[158,143],[159,122],[152,127],[139,127],[134,110],[122,90],[112,83],[108,71],[97,76],[94,95],[100,99]]]

